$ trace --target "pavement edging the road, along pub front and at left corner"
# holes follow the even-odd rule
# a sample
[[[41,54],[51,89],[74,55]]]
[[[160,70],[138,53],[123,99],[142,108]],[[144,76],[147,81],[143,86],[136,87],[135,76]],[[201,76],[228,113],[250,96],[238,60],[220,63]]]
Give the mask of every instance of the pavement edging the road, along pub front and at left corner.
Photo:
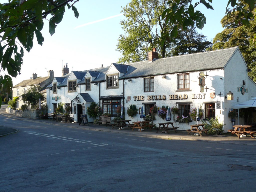
[[[184,130],[177,130],[177,133],[175,133],[174,131],[169,131],[169,133],[162,133],[161,131],[158,131],[158,133],[156,133],[156,130],[145,129],[144,131],[140,132],[137,129],[136,130],[134,129],[134,131],[132,131],[129,127],[125,127],[125,129],[119,130],[117,127],[114,127],[114,129],[112,129],[112,126],[95,125],[92,123],[89,123],[89,125],[82,125],[82,124],[79,125],[79,123],[61,123],[53,120],[28,119],[28,118],[23,118],[23,117],[8,114],[5,112],[5,108],[3,107],[4,106],[1,107],[0,115],[6,116],[12,119],[30,121],[33,123],[37,122],[37,123],[43,123],[43,124],[55,124],[55,125],[76,128],[76,129],[106,131],[106,132],[129,134],[129,135],[141,136],[141,137],[152,137],[152,138],[159,138],[159,139],[208,141],[208,142],[221,142],[221,143],[231,143],[231,144],[256,145],[256,138],[246,137],[246,138],[238,139],[237,136],[232,136],[230,135],[230,133],[226,133],[223,135],[203,134],[203,136],[196,136],[191,133],[190,135],[188,135],[188,133]],[[8,127],[8,125],[6,126],[0,125],[0,136],[6,136],[8,134],[16,133],[16,132],[18,132],[17,129]]]

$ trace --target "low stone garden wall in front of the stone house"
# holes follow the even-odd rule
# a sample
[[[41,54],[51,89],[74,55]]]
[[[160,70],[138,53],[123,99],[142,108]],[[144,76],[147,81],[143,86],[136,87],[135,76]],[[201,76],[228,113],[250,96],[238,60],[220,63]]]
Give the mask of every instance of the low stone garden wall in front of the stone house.
[[[46,110],[32,110],[32,109],[25,109],[24,111],[10,109],[10,111],[9,111],[9,108],[6,108],[5,111],[9,114],[24,117],[24,118],[28,118],[28,119],[39,119],[39,115],[42,112],[44,114],[46,113]]]

